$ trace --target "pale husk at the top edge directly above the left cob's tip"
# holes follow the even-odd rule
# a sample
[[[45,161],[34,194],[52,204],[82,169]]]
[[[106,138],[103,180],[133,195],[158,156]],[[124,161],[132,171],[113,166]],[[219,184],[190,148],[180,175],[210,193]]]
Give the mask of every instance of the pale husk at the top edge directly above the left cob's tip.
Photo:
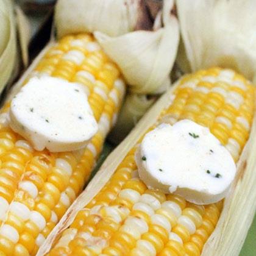
[[[139,4],[133,0],[59,0],[55,8],[57,35],[96,30],[110,36],[126,34],[137,24]]]

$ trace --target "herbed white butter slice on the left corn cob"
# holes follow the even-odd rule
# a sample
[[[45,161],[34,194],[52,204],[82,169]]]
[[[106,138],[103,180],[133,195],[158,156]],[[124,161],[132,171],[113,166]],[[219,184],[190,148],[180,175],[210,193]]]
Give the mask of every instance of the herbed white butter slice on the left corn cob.
[[[82,85],[34,77],[10,105],[10,127],[38,151],[84,148],[98,130]]]

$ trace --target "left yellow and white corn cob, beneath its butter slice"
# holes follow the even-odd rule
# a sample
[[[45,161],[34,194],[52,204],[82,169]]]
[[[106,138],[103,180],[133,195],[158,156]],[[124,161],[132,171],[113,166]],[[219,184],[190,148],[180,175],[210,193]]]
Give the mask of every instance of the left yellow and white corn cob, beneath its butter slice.
[[[99,130],[77,152],[34,151],[5,122],[0,127],[0,254],[34,255],[76,199],[91,174],[104,138],[115,122],[124,83],[89,34],[62,38],[46,53],[31,76],[53,76],[87,89]]]

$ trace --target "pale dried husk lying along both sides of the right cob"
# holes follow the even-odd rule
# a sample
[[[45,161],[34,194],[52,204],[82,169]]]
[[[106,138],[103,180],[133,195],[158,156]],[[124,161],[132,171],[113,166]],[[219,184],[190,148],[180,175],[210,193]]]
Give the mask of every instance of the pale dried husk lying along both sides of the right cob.
[[[158,99],[157,103],[141,118],[135,129],[107,157],[97,174],[69,207],[68,211],[60,219],[59,224],[55,226],[40,247],[38,255],[44,255],[51,249],[51,245],[59,238],[60,233],[73,222],[79,210],[84,208],[104,187],[130,149],[137,144],[137,141],[146,133],[149,127],[157,122],[162,110],[171,104],[172,91],[176,89],[178,84],[179,81]],[[239,254],[256,208],[256,190],[254,189],[256,182],[256,172],[254,171],[256,164],[255,152],[256,118],[254,118],[252,124],[249,140],[237,163],[236,178],[225,199],[220,219],[215,231],[208,238],[202,255],[235,256]]]

